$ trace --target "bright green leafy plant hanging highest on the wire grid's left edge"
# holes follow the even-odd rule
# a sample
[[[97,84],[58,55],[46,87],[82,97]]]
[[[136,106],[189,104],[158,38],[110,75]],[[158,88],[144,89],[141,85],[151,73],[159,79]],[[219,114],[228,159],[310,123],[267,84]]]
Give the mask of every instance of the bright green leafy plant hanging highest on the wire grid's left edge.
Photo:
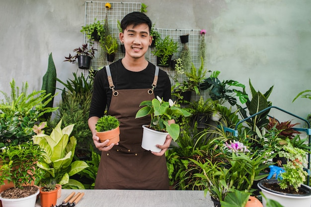
[[[90,42],[92,42],[99,41],[104,38],[105,29],[102,22],[97,21],[95,18],[93,23],[82,26],[80,32],[85,33],[85,36],[89,39]]]

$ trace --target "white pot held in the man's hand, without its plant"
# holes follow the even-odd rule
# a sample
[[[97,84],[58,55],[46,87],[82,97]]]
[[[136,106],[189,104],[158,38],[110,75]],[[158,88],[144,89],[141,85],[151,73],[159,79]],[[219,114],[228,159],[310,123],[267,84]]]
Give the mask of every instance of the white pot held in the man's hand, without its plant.
[[[160,152],[161,149],[156,147],[156,145],[163,145],[168,133],[150,129],[147,125],[143,125],[143,128],[142,147],[152,152]]]

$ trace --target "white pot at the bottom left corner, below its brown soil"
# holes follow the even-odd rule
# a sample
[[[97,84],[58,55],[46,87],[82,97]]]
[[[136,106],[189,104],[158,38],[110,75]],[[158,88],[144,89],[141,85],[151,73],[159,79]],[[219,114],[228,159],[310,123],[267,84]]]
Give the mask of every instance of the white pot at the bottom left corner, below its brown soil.
[[[21,198],[21,199],[5,199],[0,196],[2,207],[35,207],[37,195],[40,193],[39,189],[37,193]]]

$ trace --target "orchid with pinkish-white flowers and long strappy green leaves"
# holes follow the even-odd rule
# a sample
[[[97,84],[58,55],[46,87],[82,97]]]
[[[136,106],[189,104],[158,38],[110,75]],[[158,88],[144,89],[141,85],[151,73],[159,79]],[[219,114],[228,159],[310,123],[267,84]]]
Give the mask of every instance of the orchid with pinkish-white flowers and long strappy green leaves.
[[[202,170],[194,174],[201,178],[196,185],[205,187],[205,195],[210,194],[215,206],[220,206],[233,189],[250,192],[255,180],[266,177],[259,173],[268,168],[268,160],[274,156],[273,148],[251,152],[246,145],[237,141],[247,140],[245,136],[234,139],[218,135],[211,139],[214,146],[207,151],[209,157],[203,161],[190,159]]]

